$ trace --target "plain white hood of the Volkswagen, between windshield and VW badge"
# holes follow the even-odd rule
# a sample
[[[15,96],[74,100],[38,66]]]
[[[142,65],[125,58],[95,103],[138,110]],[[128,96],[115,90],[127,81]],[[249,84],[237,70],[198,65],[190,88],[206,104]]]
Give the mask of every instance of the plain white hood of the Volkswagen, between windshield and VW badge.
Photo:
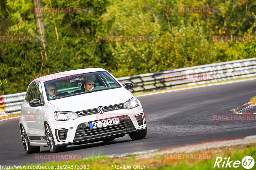
[[[133,97],[125,88],[108,89],[48,101],[60,111],[81,111],[124,103]]]

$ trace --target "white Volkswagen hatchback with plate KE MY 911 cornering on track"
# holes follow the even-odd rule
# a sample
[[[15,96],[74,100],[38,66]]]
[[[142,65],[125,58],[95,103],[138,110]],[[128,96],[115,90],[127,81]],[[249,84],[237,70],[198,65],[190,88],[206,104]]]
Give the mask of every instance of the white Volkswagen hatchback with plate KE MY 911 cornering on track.
[[[85,68],[33,80],[21,106],[20,133],[25,151],[65,151],[67,145],[108,142],[129,134],[145,138],[140,101],[108,71]]]

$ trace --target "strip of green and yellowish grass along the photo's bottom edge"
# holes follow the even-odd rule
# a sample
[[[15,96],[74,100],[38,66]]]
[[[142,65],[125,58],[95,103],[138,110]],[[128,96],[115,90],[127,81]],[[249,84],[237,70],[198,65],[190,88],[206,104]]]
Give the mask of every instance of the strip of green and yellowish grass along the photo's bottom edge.
[[[77,151],[79,152],[79,151]],[[118,157],[118,158],[108,158],[102,155],[96,155],[93,157],[89,157],[87,159],[82,160],[71,160],[68,162],[48,162],[41,164],[33,164],[40,166],[55,166],[53,169],[57,169],[57,166],[66,166],[71,165],[89,165],[90,170],[109,170],[111,169],[111,165],[145,165],[145,169],[156,169],[156,170],[209,170],[209,169],[219,169],[213,168],[216,157],[220,156],[224,159],[224,157],[230,157],[230,160],[239,160],[245,156],[251,156],[256,159],[256,144],[248,144],[248,145],[239,145],[239,146],[227,146],[220,148],[212,148],[200,151],[201,153],[212,153],[211,160],[172,160],[166,159],[167,157],[162,155],[151,156],[147,159],[139,159],[136,156],[126,156],[126,157]],[[45,154],[45,153],[44,153]],[[49,153],[50,154],[50,153]],[[63,154],[63,153],[60,153]],[[234,161],[231,163],[233,165]],[[222,166],[222,162],[219,164]],[[33,166],[32,165],[32,166]],[[27,165],[31,166],[31,165]],[[142,166],[143,167],[143,166]],[[255,169],[256,165],[254,165]],[[21,168],[22,169],[22,168]],[[43,168],[47,169],[47,168]],[[61,168],[59,168],[61,169]],[[65,168],[64,168],[65,169]],[[68,169],[68,168],[67,168]],[[72,168],[69,168],[72,169]],[[74,168],[73,168],[74,169]],[[77,168],[76,168],[77,169]],[[85,168],[84,168],[85,169]],[[113,168],[112,168],[113,169]],[[133,168],[131,168],[133,169]],[[221,168],[223,169],[223,168]],[[229,169],[244,169],[242,165],[238,168],[229,168]]]

